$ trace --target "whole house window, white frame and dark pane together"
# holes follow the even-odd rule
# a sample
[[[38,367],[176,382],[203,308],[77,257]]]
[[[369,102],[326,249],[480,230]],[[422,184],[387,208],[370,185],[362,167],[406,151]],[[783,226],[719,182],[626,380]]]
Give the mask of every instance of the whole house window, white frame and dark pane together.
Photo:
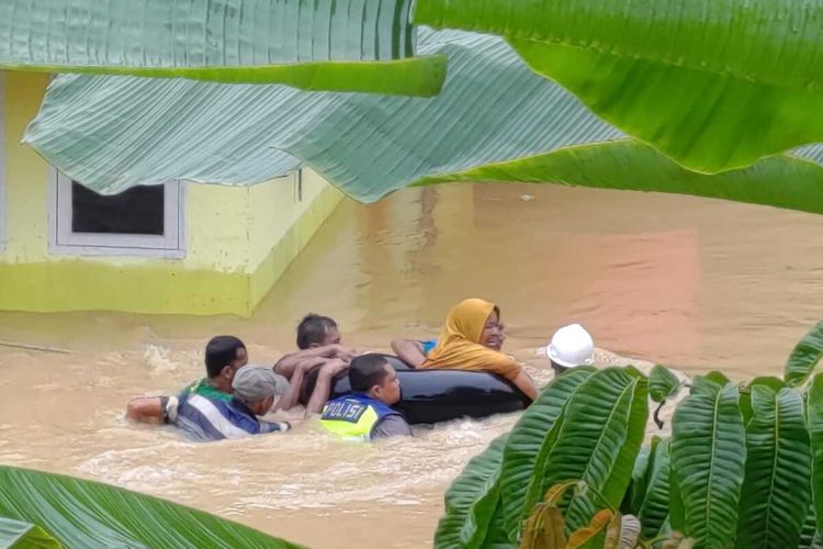
[[[52,251],[184,257],[184,186],[133,187],[104,195],[53,169]]]

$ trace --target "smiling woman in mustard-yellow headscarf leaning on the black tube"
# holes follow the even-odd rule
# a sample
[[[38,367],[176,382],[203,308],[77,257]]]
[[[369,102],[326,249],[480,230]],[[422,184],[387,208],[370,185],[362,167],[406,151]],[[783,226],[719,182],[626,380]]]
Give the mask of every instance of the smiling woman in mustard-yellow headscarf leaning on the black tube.
[[[534,400],[538,395],[534,382],[514,358],[500,352],[503,339],[497,305],[478,299],[461,301],[449,312],[437,346],[420,368],[497,373]]]

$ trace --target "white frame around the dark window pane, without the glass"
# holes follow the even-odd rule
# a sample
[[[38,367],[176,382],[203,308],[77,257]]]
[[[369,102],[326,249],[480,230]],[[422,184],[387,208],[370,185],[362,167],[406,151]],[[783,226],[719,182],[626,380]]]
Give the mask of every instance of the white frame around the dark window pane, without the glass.
[[[71,232],[71,178],[49,168],[48,249],[55,255],[185,257],[185,183],[166,183],[160,235],[116,235]],[[169,231],[171,229],[171,231]]]

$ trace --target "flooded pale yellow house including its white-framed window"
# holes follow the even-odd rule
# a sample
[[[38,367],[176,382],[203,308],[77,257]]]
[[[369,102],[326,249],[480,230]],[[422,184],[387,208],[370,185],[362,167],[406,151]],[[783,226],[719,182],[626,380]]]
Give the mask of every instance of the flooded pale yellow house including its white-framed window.
[[[95,193],[21,144],[48,80],[0,70],[0,310],[249,315],[342,198],[308,169]]]

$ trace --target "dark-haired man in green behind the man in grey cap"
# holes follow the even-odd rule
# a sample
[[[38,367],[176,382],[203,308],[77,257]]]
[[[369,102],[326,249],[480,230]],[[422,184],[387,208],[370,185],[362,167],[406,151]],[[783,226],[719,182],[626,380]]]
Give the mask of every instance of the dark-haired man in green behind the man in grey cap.
[[[216,401],[230,401],[235,372],[249,361],[246,345],[234,336],[216,336],[205,349],[206,377],[189,384],[182,393]],[[126,417],[139,423],[166,423],[168,396],[139,396],[126,407]]]

